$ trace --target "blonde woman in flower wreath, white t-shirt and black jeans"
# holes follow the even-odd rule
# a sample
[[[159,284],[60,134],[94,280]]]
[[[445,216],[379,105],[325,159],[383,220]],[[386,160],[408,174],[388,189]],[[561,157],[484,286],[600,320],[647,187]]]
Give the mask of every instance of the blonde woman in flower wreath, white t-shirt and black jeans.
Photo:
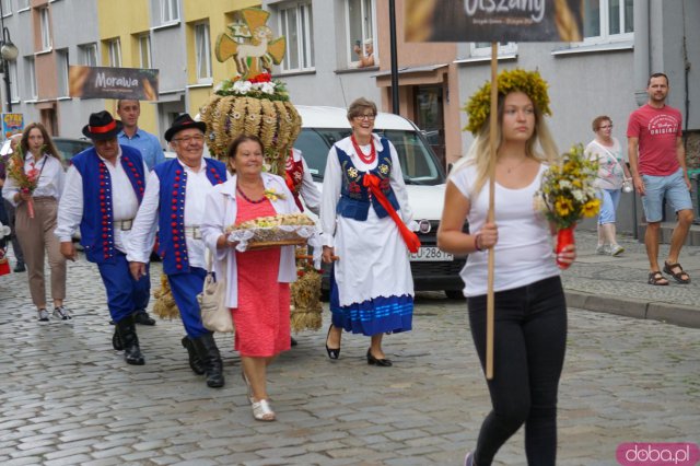
[[[557,455],[557,391],[564,359],[567,303],[552,253],[552,229],[533,206],[545,162],[557,158],[557,149],[542,117],[542,113],[549,114],[546,84],[541,85],[544,81],[536,72],[518,71],[510,79],[499,79],[495,222],[486,221],[490,154],[487,108],[483,121],[476,126],[470,121],[477,137],[466,161],[450,176],[438,232],[441,249],[469,254],[460,275],[482,369],[487,257],[489,251],[495,252],[494,374],[487,381],[492,410],[481,424],[476,448],[465,458],[469,466],[490,465],[523,424],[529,465],[555,465]],[[471,108],[471,119],[479,115],[483,112]],[[537,144],[544,155],[536,152]],[[463,232],[465,219],[469,233]],[[560,254],[567,264],[574,258],[573,245]]]

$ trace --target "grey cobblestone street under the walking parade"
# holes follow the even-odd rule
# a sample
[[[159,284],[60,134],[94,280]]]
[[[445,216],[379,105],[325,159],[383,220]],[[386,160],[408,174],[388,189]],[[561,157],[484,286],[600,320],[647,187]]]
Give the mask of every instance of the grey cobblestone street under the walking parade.
[[[466,305],[442,293],[420,294],[415,330],[386,337],[388,369],[347,334],[331,362],[326,313],[271,365],[279,420],[265,423],[231,336],[217,337],[222,389],[189,370],[179,322],[139,326],[147,363],[127,365],[96,267],[81,256],[69,283],[73,323],[39,326],[26,275],[0,278],[0,464],[460,465],[489,408]],[[700,329],[570,310],[558,464],[615,465],[622,442],[698,442],[699,374]],[[497,464],[525,464],[522,430]]]

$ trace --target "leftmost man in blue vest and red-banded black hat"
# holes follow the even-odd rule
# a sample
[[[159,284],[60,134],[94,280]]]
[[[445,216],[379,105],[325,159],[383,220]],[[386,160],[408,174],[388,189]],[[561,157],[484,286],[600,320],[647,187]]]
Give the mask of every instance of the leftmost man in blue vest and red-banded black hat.
[[[97,264],[107,292],[109,314],[116,325],[113,346],[124,349],[127,363],[141,365],[144,361],[132,315],[148,305],[151,283],[147,273],[139,280],[131,277],[126,245],[149,172],[140,151],[118,144],[121,123],[108,112],[90,115],[83,135],[92,139],[94,147],[72,159],[58,206],[56,235],[61,254],[74,260],[71,238],[80,226],[80,243],[88,260]],[[152,229],[150,243],[144,245],[149,251],[154,234]]]

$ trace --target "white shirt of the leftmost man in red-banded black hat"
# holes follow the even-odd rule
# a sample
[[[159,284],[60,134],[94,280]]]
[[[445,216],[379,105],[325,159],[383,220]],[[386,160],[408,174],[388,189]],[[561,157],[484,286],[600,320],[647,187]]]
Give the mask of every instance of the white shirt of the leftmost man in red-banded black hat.
[[[97,154],[100,156],[100,154]],[[129,180],[127,172],[121,165],[121,148],[115,164],[103,159],[100,159],[105,163],[107,171],[109,172],[109,178],[112,180],[112,212],[114,214],[114,221],[132,220],[139,210],[139,199],[133,193],[133,185]],[[149,173],[149,170],[143,164],[143,173]],[[148,189],[148,184],[147,184]],[[56,236],[61,242],[69,242],[75,230],[80,226],[80,222],[83,218],[83,177],[71,165],[66,174],[66,188],[61,201],[58,206],[58,226],[56,228]],[[132,234],[131,230],[114,229],[114,246],[120,253],[127,253],[127,243],[129,236]],[[145,247],[145,246],[144,246]],[[151,245],[147,247],[147,252],[150,254],[153,247],[153,240]]]

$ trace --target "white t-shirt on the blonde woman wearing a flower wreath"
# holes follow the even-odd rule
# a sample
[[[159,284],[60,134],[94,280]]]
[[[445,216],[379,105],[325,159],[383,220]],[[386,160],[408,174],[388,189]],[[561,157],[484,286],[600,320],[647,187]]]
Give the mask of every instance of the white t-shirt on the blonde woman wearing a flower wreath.
[[[494,211],[499,242],[494,247],[493,291],[512,290],[559,275],[549,223],[534,208],[534,196],[546,170],[547,166],[541,164],[533,183],[522,189],[509,189],[495,184]],[[489,211],[489,183],[485,183],[475,199],[471,193],[475,180],[475,165],[460,167],[450,176],[450,182],[471,203],[467,214],[471,233],[481,230]],[[486,251],[469,254],[459,273],[465,282],[466,296],[487,293],[487,254]]]

